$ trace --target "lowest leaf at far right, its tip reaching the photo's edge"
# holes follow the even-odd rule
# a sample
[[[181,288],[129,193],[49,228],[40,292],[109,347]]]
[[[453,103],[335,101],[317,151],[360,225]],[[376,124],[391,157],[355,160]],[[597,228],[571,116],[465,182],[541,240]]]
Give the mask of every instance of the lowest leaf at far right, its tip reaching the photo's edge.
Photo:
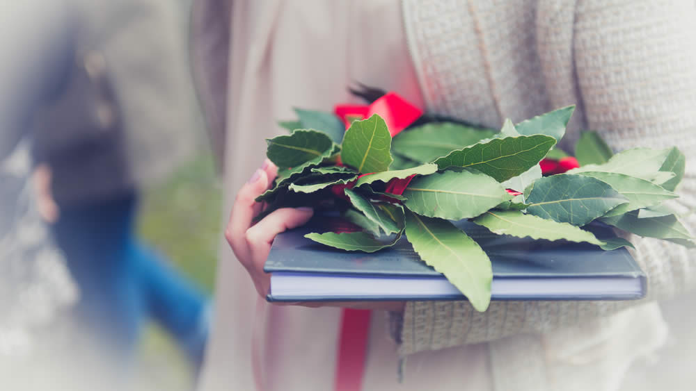
[[[633,212],[621,216],[605,217],[601,221],[648,238],[674,240],[679,244],[686,244],[693,240],[686,227],[679,222],[675,215],[639,219],[638,211],[633,210]]]

